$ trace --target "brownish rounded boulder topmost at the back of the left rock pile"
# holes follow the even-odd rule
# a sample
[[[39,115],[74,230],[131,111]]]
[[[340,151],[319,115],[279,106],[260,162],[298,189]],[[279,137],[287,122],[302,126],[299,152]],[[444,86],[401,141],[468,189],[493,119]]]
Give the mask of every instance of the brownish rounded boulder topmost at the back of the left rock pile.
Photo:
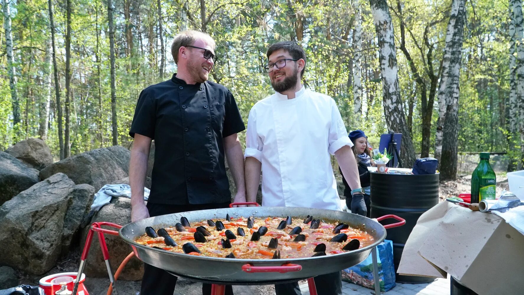
[[[46,142],[38,138],[22,140],[5,150],[7,154],[17,158],[29,168],[42,170],[53,163],[51,150]]]

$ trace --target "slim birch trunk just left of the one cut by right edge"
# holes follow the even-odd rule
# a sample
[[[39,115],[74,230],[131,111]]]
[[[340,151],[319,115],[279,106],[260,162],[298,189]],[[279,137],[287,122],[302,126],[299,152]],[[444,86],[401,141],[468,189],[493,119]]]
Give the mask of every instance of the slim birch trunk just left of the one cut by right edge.
[[[514,157],[516,154],[516,139],[518,129],[518,103],[517,103],[517,59],[515,48],[517,44],[515,15],[513,13],[515,2],[520,0],[509,0],[509,106],[508,106],[508,146],[510,157],[508,162],[508,172],[517,170],[518,161]]]

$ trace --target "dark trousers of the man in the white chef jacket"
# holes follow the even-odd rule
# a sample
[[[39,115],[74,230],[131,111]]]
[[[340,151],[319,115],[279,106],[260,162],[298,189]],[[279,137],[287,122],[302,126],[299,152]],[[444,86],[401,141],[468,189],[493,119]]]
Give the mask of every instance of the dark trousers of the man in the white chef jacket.
[[[315,281],[316,293],[320,295],[342,295],[342,272],[332,272],[316,276]],[[282,283],[275,285],[277,295],[302,295],[298,282]]]

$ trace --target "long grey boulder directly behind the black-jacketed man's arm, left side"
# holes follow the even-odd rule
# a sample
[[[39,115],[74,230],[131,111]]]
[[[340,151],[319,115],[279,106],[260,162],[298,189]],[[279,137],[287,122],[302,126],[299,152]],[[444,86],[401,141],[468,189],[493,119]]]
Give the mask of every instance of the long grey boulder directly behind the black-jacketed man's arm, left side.
[[[124,147],[98,148],[56,162],[40,171],[46,179],[55,173],[65,173],[77,184],[87,183],[98,191],[104,184],[128,176],[130,152]]]

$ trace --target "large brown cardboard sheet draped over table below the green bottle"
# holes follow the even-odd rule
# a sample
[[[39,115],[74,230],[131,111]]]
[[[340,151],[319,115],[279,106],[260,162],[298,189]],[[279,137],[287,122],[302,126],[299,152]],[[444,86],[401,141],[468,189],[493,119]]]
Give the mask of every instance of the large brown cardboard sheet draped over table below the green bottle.
[[[479,295],[522,294],[524,235],[495,214],[451,206],[420,255]]]

